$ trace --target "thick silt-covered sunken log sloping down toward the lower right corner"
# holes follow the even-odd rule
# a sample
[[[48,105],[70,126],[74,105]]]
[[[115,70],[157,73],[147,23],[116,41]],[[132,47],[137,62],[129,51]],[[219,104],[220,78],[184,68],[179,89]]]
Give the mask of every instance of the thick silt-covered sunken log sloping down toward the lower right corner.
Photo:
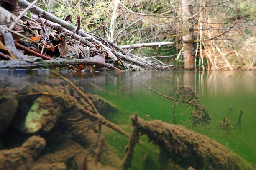
[[[237,154],[205,135],[195,133],[181,125],[160,120],[151,122],[131,117],[132,124],[141,135],[146,134],[160,148],[160,157],[197,170],[252,170]]]

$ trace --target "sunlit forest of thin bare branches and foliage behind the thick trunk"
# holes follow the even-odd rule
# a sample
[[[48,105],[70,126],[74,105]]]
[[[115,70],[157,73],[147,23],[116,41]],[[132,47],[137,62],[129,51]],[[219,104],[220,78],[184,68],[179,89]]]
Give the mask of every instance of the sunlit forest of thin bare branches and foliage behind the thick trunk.
[[[41,0],[48,12],[66,20],[70,16],[74,25],[79,15],[82,30],[117,45],[173,42],[127,50],[145,60],[175,66],[184,62],[184,2],[192,14],[196,69],[256,69],[255,0]]]

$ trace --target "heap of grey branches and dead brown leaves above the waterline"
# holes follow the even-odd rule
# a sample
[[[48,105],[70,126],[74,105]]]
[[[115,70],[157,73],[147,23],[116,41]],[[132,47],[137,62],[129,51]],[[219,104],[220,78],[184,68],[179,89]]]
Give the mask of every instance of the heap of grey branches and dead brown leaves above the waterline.
[[[0,68],[49,68],[68,65],[83,65],[80,70],[84,70],[87,65],[114,70],[161,68],[124,51],[103,37],[81,31],[79,15],[75,27],[26,0],[18,2],[20,7],[33,13],[23,15],[25,10],[16,17],[0,7]],[[20,17],[25,20],[20,20]],[[92,68],[95,67],[87,67],[87,70]]]

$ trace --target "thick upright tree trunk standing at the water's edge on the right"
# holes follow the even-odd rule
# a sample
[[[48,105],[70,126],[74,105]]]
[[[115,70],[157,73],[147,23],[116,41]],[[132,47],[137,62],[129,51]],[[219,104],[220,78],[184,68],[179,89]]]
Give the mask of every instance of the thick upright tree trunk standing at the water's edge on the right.
[[[183,56],[184,56],[184,70],[195,70],[195,47],[194,47],[194,31],[191,27],[192,13],[190,0],[182,1],[182,33],[183,33]]]

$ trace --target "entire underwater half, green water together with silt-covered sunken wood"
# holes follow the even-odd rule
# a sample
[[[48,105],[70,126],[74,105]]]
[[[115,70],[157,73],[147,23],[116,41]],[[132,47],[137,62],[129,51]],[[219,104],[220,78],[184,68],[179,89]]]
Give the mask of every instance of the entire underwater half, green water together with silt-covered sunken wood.
[[[255,71],[0,74],[0,170],[256,169]]]

